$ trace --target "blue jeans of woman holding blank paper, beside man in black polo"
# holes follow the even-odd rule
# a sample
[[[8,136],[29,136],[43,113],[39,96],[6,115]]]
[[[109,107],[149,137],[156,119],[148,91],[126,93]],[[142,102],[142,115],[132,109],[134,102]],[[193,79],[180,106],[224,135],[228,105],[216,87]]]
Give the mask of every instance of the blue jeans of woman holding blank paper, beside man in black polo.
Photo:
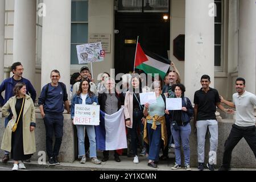
[[[174,144],[175,144],[175,160],[177,164],[181,165],[180,143],[182,142],[185,164],[189,164],[190,163],[189,135],[191,134],[191,126],[188,123],[185,126],[178,126],[178,128],[179,130],[175,130],[174,127],[171,126],[172,136],[174,137]]]

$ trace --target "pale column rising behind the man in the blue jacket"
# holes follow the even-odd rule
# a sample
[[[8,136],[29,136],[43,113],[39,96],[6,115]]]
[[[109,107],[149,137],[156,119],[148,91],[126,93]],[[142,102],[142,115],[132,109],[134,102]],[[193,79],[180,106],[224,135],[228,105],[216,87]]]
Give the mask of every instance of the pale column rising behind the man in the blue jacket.
[[[15,0],[13,62],[20,61],[23,77],[35,84],[36,1]]]

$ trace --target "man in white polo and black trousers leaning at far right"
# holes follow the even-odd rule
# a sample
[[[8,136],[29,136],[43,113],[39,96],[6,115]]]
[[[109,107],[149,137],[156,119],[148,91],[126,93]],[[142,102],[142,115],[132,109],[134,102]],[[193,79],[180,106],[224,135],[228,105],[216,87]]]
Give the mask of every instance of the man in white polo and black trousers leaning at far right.
[[[243,137],[256,158],[256,128],[253,114],[254,106],[256,105],[256,96],[253,93],[245,91],[244,78],[237,78],[236,90],[237,93],[233,94],[233,102],[226,101],[221,97],[222,103],[236,108],[236,122],[232,125],[232,130],[225,142],[222,166],[218,169],[219,171],[228,171],[230,169],[232,150]]]

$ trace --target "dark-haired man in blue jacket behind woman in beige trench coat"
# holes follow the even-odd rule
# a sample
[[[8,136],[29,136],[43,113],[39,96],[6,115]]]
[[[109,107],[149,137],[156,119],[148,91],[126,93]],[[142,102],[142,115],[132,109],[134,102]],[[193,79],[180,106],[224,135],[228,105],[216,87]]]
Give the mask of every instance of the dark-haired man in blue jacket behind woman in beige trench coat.
[[[35,102],[36,99],[36,91],[32,86],[31,82],[26,78],[22,77],[22,73],[24,68],[20,62],[16,62],[11,65],[11,71],[13,72],[14,76],[10,78],[6,78],[3,80],[2,84],[0,85],[0,105],[3,106],[9,100],[10,97],[14,96],[13,88],[18,82],[24,82],[26,84],[27,94],[30,94],[32,100]],[[5,90],[5,99],[1,93]],[[10,114],[8,118],[5,118],[5,127],[10,119],[13,117],[13,114]],[[9,152],[5,151],[5,155],[2,158],[2,162],[6,163],[9,160]]]

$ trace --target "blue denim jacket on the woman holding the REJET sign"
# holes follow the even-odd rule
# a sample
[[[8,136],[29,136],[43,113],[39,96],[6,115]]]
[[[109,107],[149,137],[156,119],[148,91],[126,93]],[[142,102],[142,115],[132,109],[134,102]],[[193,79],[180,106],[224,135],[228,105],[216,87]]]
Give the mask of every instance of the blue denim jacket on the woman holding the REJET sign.
[[[85,104],[86,105],[90,105],[90,104],[93,104],[93,102],[96,102],[98,104],[97,96],[95,96],[93,94],[92,97],[90,97],[89,94],[87,94],[87,97],[85,99]],[[73,96],[73,98],[72,98],[72,102],[71,102],[71,119],[73,119],[75,117],[75,104],[82,104],[81,95],[77,96],[77,94],[75,94],[75,96]]]

